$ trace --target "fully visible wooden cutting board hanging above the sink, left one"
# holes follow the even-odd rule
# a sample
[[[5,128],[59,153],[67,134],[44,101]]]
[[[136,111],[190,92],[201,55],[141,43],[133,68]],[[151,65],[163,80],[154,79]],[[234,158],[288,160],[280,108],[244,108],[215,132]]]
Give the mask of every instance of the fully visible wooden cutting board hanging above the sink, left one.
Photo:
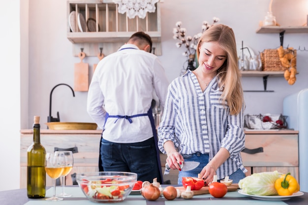
[[[85,63],[82,60],[86,57],[84,52],[78,54],[80,62],[75,63],[75,91],[88,91],[89,89],[89,63]]]

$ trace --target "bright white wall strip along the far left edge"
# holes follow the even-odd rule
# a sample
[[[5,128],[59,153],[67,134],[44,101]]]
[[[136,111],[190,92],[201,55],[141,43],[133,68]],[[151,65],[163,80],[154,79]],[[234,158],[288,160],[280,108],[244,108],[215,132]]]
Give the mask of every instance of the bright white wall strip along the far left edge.
[[[0,6],[0,191],[19,188],[20,181],[19,4],[19,0],[10,0],[5,3],[5,6]]]

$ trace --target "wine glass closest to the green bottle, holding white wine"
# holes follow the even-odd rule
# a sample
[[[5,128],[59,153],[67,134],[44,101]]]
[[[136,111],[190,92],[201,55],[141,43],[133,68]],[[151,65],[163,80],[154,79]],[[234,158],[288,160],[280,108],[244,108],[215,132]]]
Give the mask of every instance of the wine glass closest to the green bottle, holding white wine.
[[[65,167],[64,153],[56,151],[54,153],[46,153],[45,170],[48,176],[52,178],[54,194],[48,201],[60,201],[63,198],[56,197],[56,179],[62,175]]]

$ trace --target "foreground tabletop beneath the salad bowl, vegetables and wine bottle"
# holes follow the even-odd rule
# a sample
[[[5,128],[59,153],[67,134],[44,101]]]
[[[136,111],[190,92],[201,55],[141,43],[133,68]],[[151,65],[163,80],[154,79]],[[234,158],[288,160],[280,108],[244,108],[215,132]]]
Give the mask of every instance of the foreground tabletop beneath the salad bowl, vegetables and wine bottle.
[[[166,185],[163,185],[166,186]],[[177,185],[175,185],[177,186]],[[240,189],[238,189],[240,190]],[[52,188],[47,188],[46,197],[52,196]],[[56,193],[59,194],[62,191],[61,187],[57,186]],[[45,199],[28,199],[26,189],[16,189],[0,192],[1,205],[95,205],[86,199],[81,189],[77,186],[65,187],[65,192],[72,194],[72,197],[64,198],[63,201],[49,202]],[[109,203],[104,203],[109,204]],[[238,191],[228,192],[223,198],[214,198],[210,194],[196,195],[190,200],[177,198],[173,201],[167,201],[163,197],[160,197],[156,201],[145,200],[141,194],[130,194],[122,203],[123,205],[307,205],[308,193],[304,193],[302,196],[291,197],[288,200],[258,200],[238,193]],[[113,203],[113,205],[115,205]]]

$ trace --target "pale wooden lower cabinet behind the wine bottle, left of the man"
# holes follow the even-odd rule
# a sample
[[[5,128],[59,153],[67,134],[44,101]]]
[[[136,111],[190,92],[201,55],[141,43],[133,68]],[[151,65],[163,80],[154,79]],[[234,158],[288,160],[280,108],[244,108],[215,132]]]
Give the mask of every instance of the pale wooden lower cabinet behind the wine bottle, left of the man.
[[[66,176],[66,184],[72,185],[71,174],[84,172],[98,172],[100,130],[41,130],[41,144],[46,152],[54,152],[55,147],[72,148],[78,150],[73,154],[74,166]],[[21,131],[20,150],[20,188],[27,187],[27,149],[33,140],[32,130]],[[46,185],[52,186],[52,180],[46,176]]]

